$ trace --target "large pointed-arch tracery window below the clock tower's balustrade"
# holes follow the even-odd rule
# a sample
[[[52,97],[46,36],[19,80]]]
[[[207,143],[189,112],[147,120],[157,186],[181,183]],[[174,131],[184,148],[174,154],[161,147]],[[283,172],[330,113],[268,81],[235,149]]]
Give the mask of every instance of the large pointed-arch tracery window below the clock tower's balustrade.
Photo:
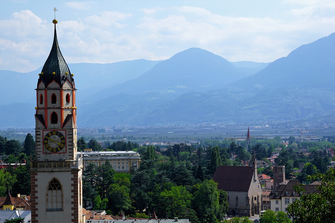
[[[59,181],[53,178],[48,187],[48,209],[47,211],[63,210],[63,194]]]

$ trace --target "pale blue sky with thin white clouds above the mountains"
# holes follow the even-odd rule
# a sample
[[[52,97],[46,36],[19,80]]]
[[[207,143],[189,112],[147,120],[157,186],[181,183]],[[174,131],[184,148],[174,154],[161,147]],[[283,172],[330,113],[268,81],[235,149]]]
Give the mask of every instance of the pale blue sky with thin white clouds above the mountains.
[[[0,0],[0,70],[43,66],[55,17],[68,64],[165,60],[192,47],[267,63],[335,32],[335,0]]]

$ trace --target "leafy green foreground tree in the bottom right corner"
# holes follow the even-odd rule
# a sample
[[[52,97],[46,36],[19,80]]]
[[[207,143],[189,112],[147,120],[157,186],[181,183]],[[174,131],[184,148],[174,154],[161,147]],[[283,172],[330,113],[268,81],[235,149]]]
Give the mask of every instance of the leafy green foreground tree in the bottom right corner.
[[[326,173],[308,176],[308,180],[313,179],[320,179],[321,182],[321,185],[316,186],[314,193],[306,193],[302,185],[294,186],[294,189],[303,195],[300,200],[288,205],[287,212],[295,223],[334,222],[335,168],[329,167]]]

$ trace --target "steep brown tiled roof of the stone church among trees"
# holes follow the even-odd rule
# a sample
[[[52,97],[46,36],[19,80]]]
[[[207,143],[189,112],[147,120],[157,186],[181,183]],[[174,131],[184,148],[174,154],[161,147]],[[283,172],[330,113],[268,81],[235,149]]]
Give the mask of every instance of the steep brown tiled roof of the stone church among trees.
[[[213,180],[223,191],[249,191],[254,170],[251,166],[218,166]]]

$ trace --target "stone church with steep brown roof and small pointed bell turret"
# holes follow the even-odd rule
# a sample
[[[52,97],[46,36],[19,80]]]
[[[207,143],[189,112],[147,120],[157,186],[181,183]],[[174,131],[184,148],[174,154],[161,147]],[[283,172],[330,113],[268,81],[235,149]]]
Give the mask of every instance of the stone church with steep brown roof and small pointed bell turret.
[[[229,214],[254,216],[263,210],[262,185],[257,174],[255,151],[252,166],[218,166],[213,180],[228,194]]]

